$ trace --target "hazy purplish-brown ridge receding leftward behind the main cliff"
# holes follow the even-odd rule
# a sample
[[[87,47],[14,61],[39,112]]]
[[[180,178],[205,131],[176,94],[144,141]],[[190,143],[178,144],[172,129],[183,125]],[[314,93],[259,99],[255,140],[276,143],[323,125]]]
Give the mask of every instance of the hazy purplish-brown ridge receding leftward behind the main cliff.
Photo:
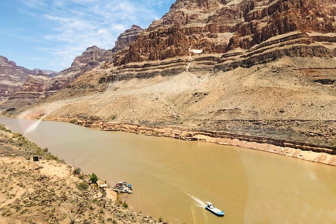
[[[41,69],[31,71],[28,69],[24,70],[24,68],[20,67],[23,70],[22,74],[24,74],[21,78],[22,82],[14,86],[16,92],[8,91],[6,94],[3,93],[3,99],[7,96],[10,97],[3,101],[1,106],[3,108],[22,108],[54,94],[59,89],[69,85],[83,73],[100,66],[104,67],[106,66],[105,64],[110,64],[109,61],[113,61],[118,58],[119,55],[123,54],[129,44],[133,43],[137,35],[142,32],[142,28],[133,25],[131,29],[126,30],[120,35],[114,49],[104,50],[96,46],[89,47],[82,55],[74,59],[69,68],[61,72]],[[104,62],[106,63],[104,64]],[[9,68],[9,66],[6,67],[7,69]],[[28,78],[28,74],[36,75],[36,77],[29,76]],[[25,82],[26,79],[27,81]],[[9,82],[9,80],[6,80],[6,82]]]

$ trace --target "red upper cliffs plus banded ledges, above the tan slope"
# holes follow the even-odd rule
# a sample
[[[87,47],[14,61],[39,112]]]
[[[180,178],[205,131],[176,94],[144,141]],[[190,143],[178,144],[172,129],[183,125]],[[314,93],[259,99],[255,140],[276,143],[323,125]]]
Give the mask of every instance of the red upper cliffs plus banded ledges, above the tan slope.
[[[116,70],[100,81],[164,76],[167,72],[152,72],[152,68],[160,70],[157,61],[170,58],[172,65],[167,67],[176,67],[174,61],[179,58],[185,62],[172,72],[178,74],[186,66],[194,71],[218,71],[267,63],[283,56],[333,57],[335,3],[334,0],[178,0],[161,20],[153,21],[137,36],[125,54],[114,58]],[[271,38],[275,39],[268,41]],[[197,60],[191,49],[202,52]],[[200,59],[202,55],[204,61]]]

